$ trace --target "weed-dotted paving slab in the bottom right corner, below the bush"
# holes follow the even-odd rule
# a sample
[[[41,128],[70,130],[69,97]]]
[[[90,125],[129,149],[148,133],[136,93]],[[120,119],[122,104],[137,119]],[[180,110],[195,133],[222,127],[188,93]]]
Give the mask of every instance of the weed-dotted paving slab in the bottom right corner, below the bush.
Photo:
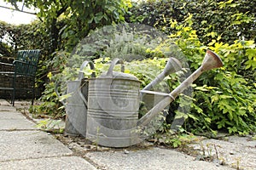
[[[256,169],[256,141],[247,137],[230,136],[227,141],[204,139],[200,144],[190,144],[202,155],[217,157],[227,166],[239,169]]]

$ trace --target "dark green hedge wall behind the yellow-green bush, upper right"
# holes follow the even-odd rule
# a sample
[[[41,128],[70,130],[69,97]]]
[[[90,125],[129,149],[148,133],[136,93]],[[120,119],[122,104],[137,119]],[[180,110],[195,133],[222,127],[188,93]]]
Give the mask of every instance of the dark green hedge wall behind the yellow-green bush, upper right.
[[[193,15],[193,30],[201,42],[211,42],[220,36],[223,42],[232,43],[236,39],[256,40],[255,1],[203,1],[203,0],[161,0],[134,4],[128,22],[140,22],[155,26],[172,35],[175,28],[172,21],[183,24],[188,14]]]

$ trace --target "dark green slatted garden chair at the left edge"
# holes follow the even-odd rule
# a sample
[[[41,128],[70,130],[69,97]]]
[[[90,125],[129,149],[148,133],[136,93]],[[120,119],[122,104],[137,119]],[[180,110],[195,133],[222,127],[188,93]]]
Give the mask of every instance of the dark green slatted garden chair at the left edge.
[[[15,105],[15,94],[17,90],[26,90],[32,92],[32,105],[33,99],[35,96],[35,76],[38,68],[38,59],[40,57],[40,49],[31,49],[31,50],[19,50],[17,56],[12,64],[0,62],[1,66],[8,68],[5,71],[0,71],[0,75],[5,77],[10,77],[6,79],[6,83],[2,82],[4,87],[0,87],[0,90],[9,90],[11,91],[11,104]],[[18,77],[31,77],[32,86],[29,87],[18,87],[20,85],[17,81]],[[11,82],[8,82],[11,81]],[[7,86],[9,84],[9,86]]]

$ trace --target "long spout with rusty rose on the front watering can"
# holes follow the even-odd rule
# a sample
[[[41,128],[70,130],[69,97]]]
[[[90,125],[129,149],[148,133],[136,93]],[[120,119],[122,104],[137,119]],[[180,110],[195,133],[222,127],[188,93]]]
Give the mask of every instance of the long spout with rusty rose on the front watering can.
[[[154,105],[154,107],[137,122],[137,126],[147,125],[148,122],[150,122],[154,118],[154,116],[157,116],[160,111],[162,111],[167,105],[169,105],[174,99],[176,99],[177,95],[181,94],[184,89],[188,88],[192,82],[200,77],[202,72],[221,66],[223,66],[223,62],[218,57],[218,55],[210,50],[207,50],[207,54],[203,59],[201,67],[198,68],[194,73],[192,73],[186,80],[184,80],[177,88],[175,88],[169,95],[162,99],[157,105]]]

